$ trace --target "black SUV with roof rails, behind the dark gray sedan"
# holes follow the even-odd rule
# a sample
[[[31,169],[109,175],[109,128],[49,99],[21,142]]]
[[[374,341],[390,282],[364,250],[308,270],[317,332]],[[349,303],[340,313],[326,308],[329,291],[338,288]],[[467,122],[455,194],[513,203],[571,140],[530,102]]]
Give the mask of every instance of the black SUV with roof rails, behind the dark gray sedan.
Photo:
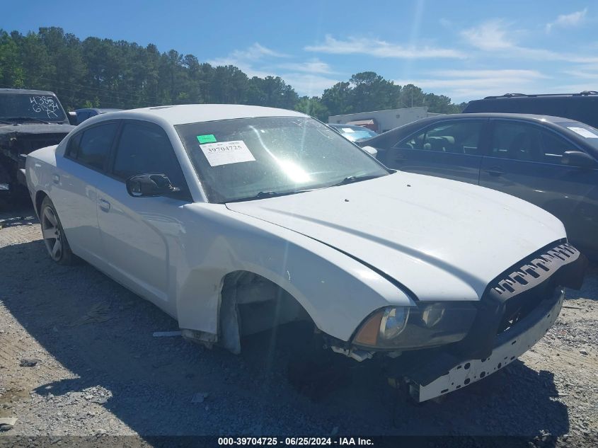
[[[502,96],[487,96],[483,100],[470,101],[463,112],[552,115],[598,128],[598,91],[555,95],[507,93]]]

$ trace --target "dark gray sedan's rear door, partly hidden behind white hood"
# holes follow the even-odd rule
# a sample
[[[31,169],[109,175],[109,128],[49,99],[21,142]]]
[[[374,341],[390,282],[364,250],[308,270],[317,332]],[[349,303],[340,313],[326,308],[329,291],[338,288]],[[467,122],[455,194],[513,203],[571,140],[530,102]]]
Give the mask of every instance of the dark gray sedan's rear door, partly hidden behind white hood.
[[[478,183],[488,120],[443,120],[401,139],[386,165],[410,173]]]

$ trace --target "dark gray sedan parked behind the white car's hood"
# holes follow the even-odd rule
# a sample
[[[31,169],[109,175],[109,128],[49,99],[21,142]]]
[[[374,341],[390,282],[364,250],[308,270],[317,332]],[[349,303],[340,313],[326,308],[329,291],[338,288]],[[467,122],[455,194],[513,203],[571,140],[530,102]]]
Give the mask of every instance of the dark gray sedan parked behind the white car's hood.
[[[461,180],[532,202],[598,258],[598,130],[560,117],[469,113],[428,117],[360,146],[401,171]],[[500,218],[496,211],[496,219]]]

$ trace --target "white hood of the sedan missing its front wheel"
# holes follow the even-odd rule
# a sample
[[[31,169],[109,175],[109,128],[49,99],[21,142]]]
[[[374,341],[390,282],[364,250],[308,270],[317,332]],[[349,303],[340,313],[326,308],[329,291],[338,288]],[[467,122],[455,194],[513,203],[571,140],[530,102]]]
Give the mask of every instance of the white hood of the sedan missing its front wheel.
[[[522,258],[565,238],[543,209],[468,183],[398,172],[226,205],[384,272],[420,300],[478,300]]]

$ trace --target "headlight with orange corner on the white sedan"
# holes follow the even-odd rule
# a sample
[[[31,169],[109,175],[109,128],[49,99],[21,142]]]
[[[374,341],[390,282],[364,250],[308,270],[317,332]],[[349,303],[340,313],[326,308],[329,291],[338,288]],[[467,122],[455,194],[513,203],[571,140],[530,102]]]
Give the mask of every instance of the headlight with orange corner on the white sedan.
[[[476,318],[471,302],[418,302],[379,309],[358,329],[353,343],[364,348],[436,347],[463,339]]]

